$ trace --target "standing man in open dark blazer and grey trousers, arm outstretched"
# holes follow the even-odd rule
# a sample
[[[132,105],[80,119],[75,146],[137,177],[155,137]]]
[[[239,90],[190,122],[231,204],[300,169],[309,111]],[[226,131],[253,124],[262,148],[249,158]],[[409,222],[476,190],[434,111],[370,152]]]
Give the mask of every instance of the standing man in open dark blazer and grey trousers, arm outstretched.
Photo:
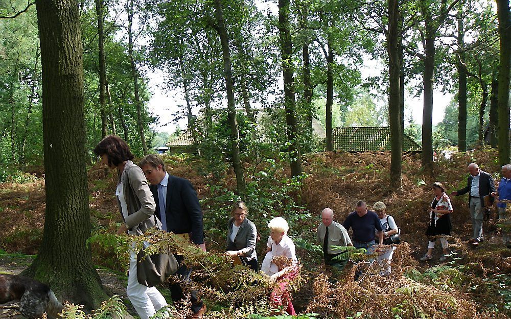
[[[474,231],[474,236],[469,242],[477,247],[479,242],[484,240],[482,236],[482,222],[485,207],[484,197],[495,191],[495,182],[492,176],[480,170],[476,163],[471,163],[468,166],[468,171],[470,176],[467,187],[453,191],[451,196],[469,193],[470,216],[472,218],[472,230]],[[493,203],[493,197],[490,196],[489,200],[490,203]]]

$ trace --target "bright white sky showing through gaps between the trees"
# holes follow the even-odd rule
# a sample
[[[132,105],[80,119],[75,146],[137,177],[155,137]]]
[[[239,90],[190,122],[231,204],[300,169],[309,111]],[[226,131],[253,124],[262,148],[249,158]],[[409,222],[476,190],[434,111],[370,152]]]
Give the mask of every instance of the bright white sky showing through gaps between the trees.
[[[270,11],[272,14],[277,13],[277,7],[274,2],[256,1],[255,4],[259,10]],[[383,57],[382,57],[383,58]],[[364,57],[363,66],[360,68],[362,78],[374,77],[381,75],[382,72],[387,72],[387,66],[381,61],[371,60],[369,57]],[[177,123],[174,121],[175,114],[178,112],[180,105],[183,105],[184,94],[182,91],[173,90],[167,91],[165,89],[165,74],[162,71],[156,70],[149,72],[149,85],[152,91],[152,97],[149,101],[149,111],[159,117],[159,121],[153,128],[158,132],[173,133],[176,130],[177,124],[181,129],[187,126],[187,120],[181,119]],[[282,75],[281,75],[282,77]],[[279,81],[282,83],[282,81]],[[416,83],[410,83],[415,85]],[[282,84],[281,84],[282,85]],[[444,118],[446,106],[452,99],[452,95],[444,95],[440,88],[433,92],[433,124],[437,124]],[[385,99],[375,100],[377,105],[386,103]],[[226,102],[224,102],[226,103]],[[417,124],[422,124],[422,111],[423,111],[423,98],[411,96],[408,90],[405,90],[405,118],[412,116]],[[197,112],[198,110],[195,110]]]

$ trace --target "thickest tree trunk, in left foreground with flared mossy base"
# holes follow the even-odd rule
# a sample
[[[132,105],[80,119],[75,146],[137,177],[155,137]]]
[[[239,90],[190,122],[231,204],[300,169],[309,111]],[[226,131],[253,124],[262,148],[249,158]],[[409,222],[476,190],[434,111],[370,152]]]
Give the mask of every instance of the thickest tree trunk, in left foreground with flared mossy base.
[[[71,0],[44,0],[36,8],[46,213],[41,247],[23,274],[48,283],[62,299],[95,309],[107,296],[86,243],[90,215],[78,6]]]

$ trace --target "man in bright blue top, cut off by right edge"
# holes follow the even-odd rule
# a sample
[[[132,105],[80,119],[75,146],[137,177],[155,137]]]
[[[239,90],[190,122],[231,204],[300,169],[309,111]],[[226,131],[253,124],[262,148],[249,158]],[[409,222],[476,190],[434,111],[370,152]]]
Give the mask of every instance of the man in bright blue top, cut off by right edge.
[[[502,179],[499,189],[492,192],[492,196],[498,200],[499,219],[502,224],[502,239],[507,248],[511,248],[511,236],[509,235],[509,213],[507,212],[506,201],[511,202],[511,164],[502,166]]]

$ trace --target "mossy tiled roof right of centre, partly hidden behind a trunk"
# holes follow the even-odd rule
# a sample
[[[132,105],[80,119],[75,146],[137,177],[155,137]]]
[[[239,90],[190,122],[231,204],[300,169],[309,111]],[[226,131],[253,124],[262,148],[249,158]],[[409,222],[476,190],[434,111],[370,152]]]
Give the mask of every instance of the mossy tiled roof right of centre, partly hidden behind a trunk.
[[[347,152],[390,151],[390,127],[342,127],[332,132],[333,150]],[[403,135],[403,152],[422,151],[409,136]]]

